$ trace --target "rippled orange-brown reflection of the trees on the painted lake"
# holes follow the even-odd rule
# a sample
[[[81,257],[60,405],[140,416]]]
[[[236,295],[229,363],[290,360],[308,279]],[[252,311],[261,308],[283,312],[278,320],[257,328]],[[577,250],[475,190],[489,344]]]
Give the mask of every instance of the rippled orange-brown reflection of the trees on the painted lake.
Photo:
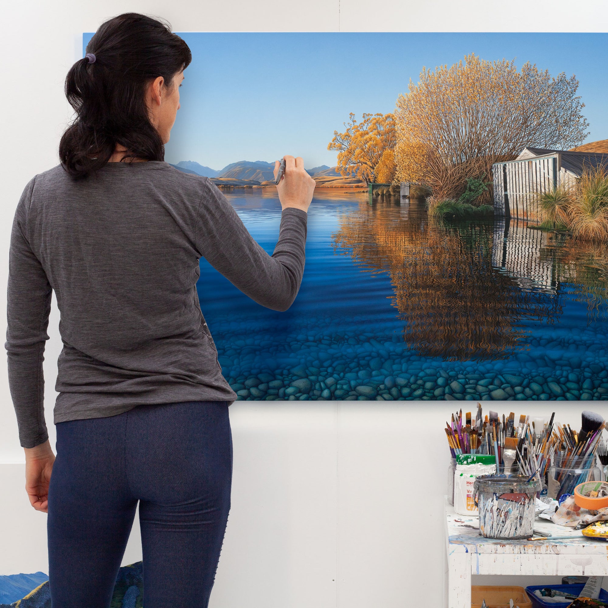
[[[497,359],[526,348],[523,320],[559,314],[557,298],[524,292],[492,268],[491,222],[444,224],[414,202],[402,219],[387,206],[361,204],[340,216],[333,243],[362,269],[389,273],[410,348],[450,360]]]

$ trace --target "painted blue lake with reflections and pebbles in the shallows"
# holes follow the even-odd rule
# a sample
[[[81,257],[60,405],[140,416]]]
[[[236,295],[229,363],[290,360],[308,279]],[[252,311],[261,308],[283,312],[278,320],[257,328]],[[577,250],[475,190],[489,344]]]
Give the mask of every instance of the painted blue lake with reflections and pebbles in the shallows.
[[[275,193],[226,196],[271,254]],[[317,190],[288,311],[205,260],[199,299],[239,399],[606,399],[608,263],[603,247],[560,238]]]

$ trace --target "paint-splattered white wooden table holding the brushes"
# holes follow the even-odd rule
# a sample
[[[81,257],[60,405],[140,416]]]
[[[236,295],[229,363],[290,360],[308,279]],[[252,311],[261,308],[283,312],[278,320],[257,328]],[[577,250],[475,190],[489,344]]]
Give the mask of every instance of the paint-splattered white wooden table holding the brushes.
[[[445,506],[447,608],[471,608],[471,575],[608,576],[608,542],[536,519],[534,533],[572,535],[556,541],[494,541],[479,534],[479,518]]]

